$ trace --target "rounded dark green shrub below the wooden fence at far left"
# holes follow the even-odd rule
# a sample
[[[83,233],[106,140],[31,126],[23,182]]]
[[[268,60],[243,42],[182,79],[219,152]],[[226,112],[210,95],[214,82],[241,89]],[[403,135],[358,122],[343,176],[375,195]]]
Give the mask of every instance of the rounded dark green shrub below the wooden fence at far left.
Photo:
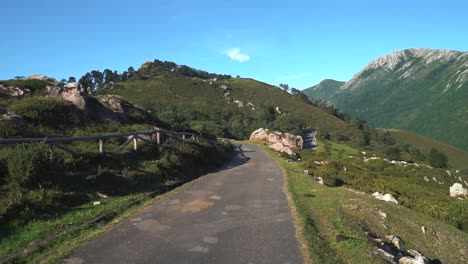
[[[64,173],[63,156],[45,143],[17,145],[5,163],[5,189],[17,198],[30,189],[57,183]]]

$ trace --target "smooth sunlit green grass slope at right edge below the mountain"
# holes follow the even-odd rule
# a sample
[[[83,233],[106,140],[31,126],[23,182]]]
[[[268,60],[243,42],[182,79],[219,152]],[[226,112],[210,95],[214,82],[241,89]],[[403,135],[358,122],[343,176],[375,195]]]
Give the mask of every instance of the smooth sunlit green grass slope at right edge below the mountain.
[[[433,147],[436,148],[447,155],[450,165],[455,169],[468,168],[468,152],[464,150],[410,131],[398,129],[383,130],[389,131],[396,140],[411,144],[422,150],[429,151]]]

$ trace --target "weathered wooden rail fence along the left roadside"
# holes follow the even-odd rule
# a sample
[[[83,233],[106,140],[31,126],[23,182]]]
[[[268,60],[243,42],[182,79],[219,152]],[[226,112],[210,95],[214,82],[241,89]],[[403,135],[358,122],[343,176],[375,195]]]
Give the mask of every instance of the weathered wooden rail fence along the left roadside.
[[[147,136],[145,138],[145,135]],[[128,137],[127,141],[120,145],[115,151],[114,154],[119,153],[125,146],[130,144],[133,141],[134,150],[138,150],[138,140],[143,141],[153,141],[158,145],[162,145],[163,135],[169,135],[171,137],[181,137],[182,139],[199,139],[203,138],[200,134],[189,133],[189,132],[174,132],[166,129],[155,128],[152,130],[144,131],[135,131],[135,132],[124,132],[124,133],[114,133],[114,134],[104,134],[96,136],[81,136],[81,137],[65,137],[65,138],[0,138],[0,144],[21,144],[21,143],[40,143],[44,142],[46,144],[52,145],[54,147],[68,151],[74,155],[80,155],[79,152],[62,145],[62,143],[70,143],[76,141],[98,141],[99,142],[99,152],[104,152],[104,140],[117,137]]]

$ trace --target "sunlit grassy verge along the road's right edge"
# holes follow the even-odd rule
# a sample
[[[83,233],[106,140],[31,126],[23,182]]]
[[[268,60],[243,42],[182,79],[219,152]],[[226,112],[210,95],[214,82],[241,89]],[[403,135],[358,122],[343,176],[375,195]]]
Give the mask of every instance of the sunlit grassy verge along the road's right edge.
[[[346,187],[320,185],[304,173],[300,163],[288,162],[270,149],[264,149],[286,172],[288,192],[297,210],[300,239],[310,255],[309,263],[385,263],[372,254],[376,242],[369,234],[399,236],[405,242],[405,250],[417,250],[433,261],[466,263],[468,260],[467,233]],[[422,232],[422,226],[426,233]]]

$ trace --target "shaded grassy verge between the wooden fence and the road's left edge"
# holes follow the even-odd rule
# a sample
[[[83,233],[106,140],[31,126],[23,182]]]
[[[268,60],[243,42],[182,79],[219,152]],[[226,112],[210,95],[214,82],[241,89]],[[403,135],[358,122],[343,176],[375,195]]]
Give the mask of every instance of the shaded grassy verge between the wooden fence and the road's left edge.
[[[95,174],[67,175],[62,185],[33,190],[37,197],[26,194],[0,223],[0,262],[55,263],[155,196],[165,197],[159,194],[224,164],[230,150],[209,142],[172,142],[117,157]],[[127,178],[116,175],[122,170]]]

